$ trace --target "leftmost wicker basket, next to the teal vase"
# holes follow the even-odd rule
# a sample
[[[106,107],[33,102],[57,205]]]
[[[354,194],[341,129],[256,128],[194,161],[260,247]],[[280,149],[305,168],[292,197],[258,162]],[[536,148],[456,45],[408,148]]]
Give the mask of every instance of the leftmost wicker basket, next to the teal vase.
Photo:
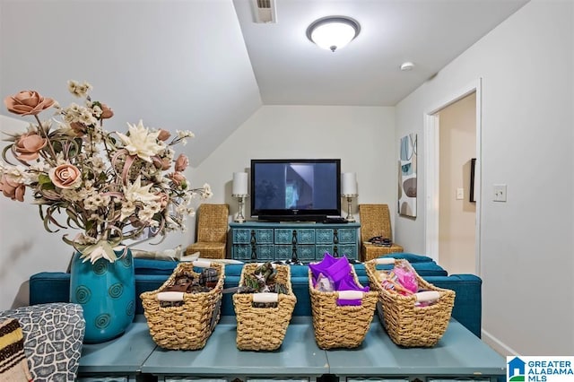
[[[194,271],[194,265],[217,269],[218,280],[213,290],[181,293],[183,296],[181,306],[161,307],[158,293],[173,285],[181,273],[199,276],[200,273]],[[160,289],[143,292],[140,295],[143,314],[147,319],[153,341],[162,348],[170,350],[202,349],[219,321],[224,277],[222,264],[201,261],[179,263]]]

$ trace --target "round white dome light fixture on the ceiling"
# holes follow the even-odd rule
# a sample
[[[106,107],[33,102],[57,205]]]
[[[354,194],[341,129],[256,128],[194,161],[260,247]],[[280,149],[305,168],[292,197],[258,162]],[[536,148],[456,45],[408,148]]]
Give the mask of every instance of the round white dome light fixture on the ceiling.
[[[319,48],[335,52],[356,38],[360,31],[359,22],[349,17],[327,16],[309,25],[307,38]]]

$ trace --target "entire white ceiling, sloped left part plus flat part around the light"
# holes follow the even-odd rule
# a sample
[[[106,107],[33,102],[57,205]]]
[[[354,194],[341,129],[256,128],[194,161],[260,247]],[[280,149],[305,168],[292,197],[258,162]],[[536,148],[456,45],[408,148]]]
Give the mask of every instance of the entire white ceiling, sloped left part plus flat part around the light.
[[[254,0],[0,0],[0,96],[67,105],[67,80],[91,82],[108,130],[191,130],[196,166],[262,104],[396,105],[526,2],[272,0],[276,22],[261,24]],[[341,14],[361,23],[348,47],[306,38]]]

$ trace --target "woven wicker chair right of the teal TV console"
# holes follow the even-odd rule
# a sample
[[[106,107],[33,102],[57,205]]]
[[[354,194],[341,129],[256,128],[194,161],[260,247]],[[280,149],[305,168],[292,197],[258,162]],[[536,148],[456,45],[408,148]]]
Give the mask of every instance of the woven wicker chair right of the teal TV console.
[[[383,247],[369,242],[369,239],[375,236],[393,240],[387,204],[359,204],[359,218],[361,220],[361,261],[404,251],[403,247],[396,243],[392,243],[390,247]]]

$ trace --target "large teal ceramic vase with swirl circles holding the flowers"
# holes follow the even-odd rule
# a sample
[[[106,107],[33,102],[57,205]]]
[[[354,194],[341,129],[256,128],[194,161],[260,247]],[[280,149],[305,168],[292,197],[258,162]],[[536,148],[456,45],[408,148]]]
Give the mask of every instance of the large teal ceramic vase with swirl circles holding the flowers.
[[[86,321],[84,343],[103,343],[124,334],[134,321],[135,275],[132,252],[117,251],[120,258],[104,258],[93,265],[76,252],[70,268],[70,302],[82,305]]]

